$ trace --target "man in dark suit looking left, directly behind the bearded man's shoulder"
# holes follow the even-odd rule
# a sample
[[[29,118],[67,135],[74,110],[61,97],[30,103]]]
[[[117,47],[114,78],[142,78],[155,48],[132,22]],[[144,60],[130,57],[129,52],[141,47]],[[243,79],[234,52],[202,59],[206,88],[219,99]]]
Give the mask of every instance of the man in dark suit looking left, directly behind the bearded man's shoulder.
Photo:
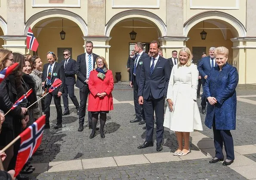
[[[130,69],[130,86],[133,87],[133,100],[134,100],[134,108],[136,117],[134,120],[130,120],[131,123],[139,122],[139,125],[145,124],[145,115],[143,111],[142,105],[139,104],[138,97],[138,88],[139,88],[139,76],[141,72],[141,67],[143,64],[143,60],[148,58],[148,54],[143,51],[143,44],[141,42],[137,42],[134,45],[134,50],[138,53],[132,68]]]

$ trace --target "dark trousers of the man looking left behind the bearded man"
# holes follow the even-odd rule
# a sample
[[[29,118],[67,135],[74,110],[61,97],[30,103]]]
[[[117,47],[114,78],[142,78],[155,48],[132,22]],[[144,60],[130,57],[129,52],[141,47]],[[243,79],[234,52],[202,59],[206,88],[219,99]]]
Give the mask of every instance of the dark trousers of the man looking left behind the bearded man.
[[[139,96],[138,96],[138,89],[139,86],[136,82],[136,76],[133,75],[133,101],[134,101],[134,108],[135,108],[135,114],[136,118],[141,120],[145,120],[145,114],[144,114],[144,109],[143,106],[139,104]]]

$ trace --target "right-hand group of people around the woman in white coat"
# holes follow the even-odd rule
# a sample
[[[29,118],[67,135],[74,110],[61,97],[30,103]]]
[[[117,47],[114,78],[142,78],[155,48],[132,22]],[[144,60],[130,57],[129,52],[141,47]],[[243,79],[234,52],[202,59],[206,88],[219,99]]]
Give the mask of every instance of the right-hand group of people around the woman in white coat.
[[[195,65],[192,63],[193,54],[189,48],[182,48],[179,53],[174,50],[172,57],[165,59],[162,57],[159,42],[150,43],[148,54],[143,52],[143,44],[137,42],[129,58],[130,86],[133,87],[136,113],[135,119],[130,122],[146,123],[142,128],[146,129],[146,139],[138,148],[154,146],[155,113],[156,150],[163,150],[163,127],[167,127],[176,133],[178,141],[173,155],[185,156],[190,153],[190,132],[203,130],[197,106],[202,84],[201,112],[206,114],[205,125],[213,128],[216,148],[216,155],[210,163],[224,160],[224,144],[227,158],[223,165],[230,165],[234,161],[234,144],[230,130],[235,129],[236,124],[235,88],[238,84],[238,73],[235,67],[227,63],[228,49],[211,47],[209,56],[203,52],[202,59],[195,62]],[[168,104],[166,110],[165,99]]]

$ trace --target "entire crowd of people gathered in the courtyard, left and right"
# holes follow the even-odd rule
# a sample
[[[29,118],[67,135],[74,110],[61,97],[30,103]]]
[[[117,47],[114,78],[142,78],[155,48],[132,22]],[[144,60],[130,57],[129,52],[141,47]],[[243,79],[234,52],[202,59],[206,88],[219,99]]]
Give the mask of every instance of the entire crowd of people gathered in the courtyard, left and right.
[[[238,73],[235,67],[227,63],[228,49],[212,47],[209,56],[203,53],[202,59],[198,60],[195,65],[192,63],[189,48],[182,48],[179,52],[173,51],[169,59],[162,57],[160,44],[157,41],[150,43],[148,54],[143,51],[143,48],[143,43],[137,42],[127,63],[136,113],[135,119],[130,122],[146,124],[143,127],[146,129],[145,142],[138,148],[154,146],[153,132],[154,124],[156,124],[157,151],[163,150],[163,131],[164,127],[167,127],[175,131],[178,141],[177,150],[173,152],[173,155],[185,156],[191,152],[190,132],[203,130],[197,106],[197,99],[200,98],[200,82],[203,86],[201,112],[206,114],[205,125],[210,129],[213,128],[216,148],[216,156],[210,163],[224,160],[222,153],[224,144],[227,158],[223,165],[230,165],[234,161],[234,144],[230,130],[235,129],[235,88],[238,83]],[[89,138],[94,138],[96,130],[99,129],[101,138],[105,138],[106,114],[113,110],[111,92],[114,89],[114,78],[112,71],[108,69],[108,63],[104,57],[93,53],[93,42],[90,41],[86,42],[86,52],[79,55],[77,61],[71,59],[69,50],[64,50],[63,56],[64,60],[58,63],[56,54],[49,51],[46,54],[48,63],[42,67],[39,56],[27,54],[24,56],[0,49],[0,70],[15,62],[19,63],[12,74],[0,84],[0,126],[2,126],[0,128],[0,149],[9,144],[43,113],[46,114],[45,129],[49,129],[52,98],[57,111],[57,123],[54,128],[62,128],[62,116],[70,114],[68,96],[77,109],[79,118],[77,130],[80,132],[84,129],[86,101],[89,96],[88,124],[86,125],[92,129]],[[52,93],[47,93],[56,78],[59,78],[62,84]],[[74,85],[79,88],[80,103],[74,95]],[[30,89],[33,93],[11,113],[4,116],[15,101]],[[44,95],[46,95],[45,98],[41,100]],[[63,113],[61,96],[64,104]],[[164,109],[166,99],[168,105]],[[30,105],[32,106],[28,108]],[[100,128],[97,127],[99,115]],[[4,169],[9,172],[10,176],[13,176],[18,150],[19,142],[0,154],[1,159],[4,160]],[[37,154],[42,153],[42,150],[37,150]],[[28,176],[25,174],[34,171],[30,161],[31,159],[16,177],[17,179],[26,180]]]

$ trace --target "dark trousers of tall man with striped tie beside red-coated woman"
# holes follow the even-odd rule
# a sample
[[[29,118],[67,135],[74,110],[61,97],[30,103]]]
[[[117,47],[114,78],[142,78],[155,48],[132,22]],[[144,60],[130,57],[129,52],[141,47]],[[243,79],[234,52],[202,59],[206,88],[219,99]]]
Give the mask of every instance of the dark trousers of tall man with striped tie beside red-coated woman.
[[[80,94],[79,125],[83,125],[85,111],[86,111],[86,102],[87,102],[87,97],[89,95],[89,87],[87,84],[85,85],[85,87],[80,88],[79,94]],[[92,114],[90,111],[88,111],[88,124],[89,126],[92,126]]]

